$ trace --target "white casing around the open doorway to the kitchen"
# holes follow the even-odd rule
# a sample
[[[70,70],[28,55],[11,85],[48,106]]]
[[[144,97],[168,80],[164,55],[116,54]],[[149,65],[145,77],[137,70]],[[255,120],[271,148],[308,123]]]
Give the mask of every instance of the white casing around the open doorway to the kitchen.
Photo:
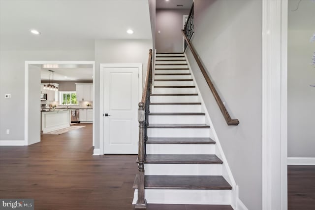
[[[43,64],[91,64],[93,66],[93,99],[95,100],[95,61],[25,61],[24,145],[29,145],[29,65]],[[40,127],[38,128],[38,132],[40,132]],[[93,146],[95,143],[94,134],[95,108],[93,108]]]

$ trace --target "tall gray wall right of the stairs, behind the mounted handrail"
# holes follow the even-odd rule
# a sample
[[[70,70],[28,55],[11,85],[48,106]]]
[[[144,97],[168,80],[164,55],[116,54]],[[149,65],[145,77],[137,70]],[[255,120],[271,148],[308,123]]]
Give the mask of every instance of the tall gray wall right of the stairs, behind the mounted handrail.
[[[192,44],[238,126],[227,126],[188,50],[189,63],[215,126],[239,198],[262,209],[261,0],[194,0]]]

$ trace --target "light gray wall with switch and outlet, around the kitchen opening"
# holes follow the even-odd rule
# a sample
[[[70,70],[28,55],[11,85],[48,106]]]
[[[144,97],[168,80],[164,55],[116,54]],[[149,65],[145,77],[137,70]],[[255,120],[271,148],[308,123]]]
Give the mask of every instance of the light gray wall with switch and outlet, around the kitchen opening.
[[[0,49],[0,140],[24,140],[25,61],[80,60],[94,61],[94,46],[77,50],[64,46],[63,49],[50,51],[2,51]],[[40,70],[38,74],[40,78]],[[37,76],[30,77],[30,83],[37,81],[40,84]],[[4,99],[2,96],[6,93],[10,93],[12,98]],[[31,91],[30,96],[33,94],[37,93]],[[5,134],[6,129],[10,129],[9,135]]]

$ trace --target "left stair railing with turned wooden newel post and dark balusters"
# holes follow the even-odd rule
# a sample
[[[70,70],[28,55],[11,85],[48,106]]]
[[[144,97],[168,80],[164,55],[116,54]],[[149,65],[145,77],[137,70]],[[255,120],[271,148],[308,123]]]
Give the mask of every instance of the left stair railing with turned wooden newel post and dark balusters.
[[[150,95],[152,86],[152,49],[149,50],[148,69],[143,86],[142,98],[138,108],[139,148],[138,148],[138,201],[135,209],[146,209],[147,201],[144,195],[144,161],[146,156],[145,142],[148,140],[148,125],[150,113]]]

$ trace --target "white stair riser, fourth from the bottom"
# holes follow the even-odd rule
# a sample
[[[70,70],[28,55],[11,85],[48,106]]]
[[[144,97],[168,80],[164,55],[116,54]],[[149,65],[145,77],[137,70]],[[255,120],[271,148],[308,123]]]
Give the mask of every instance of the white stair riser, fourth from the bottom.
[[[209,128],[148,128],[148,137],[208,138],[209,135],[210,135]]]

